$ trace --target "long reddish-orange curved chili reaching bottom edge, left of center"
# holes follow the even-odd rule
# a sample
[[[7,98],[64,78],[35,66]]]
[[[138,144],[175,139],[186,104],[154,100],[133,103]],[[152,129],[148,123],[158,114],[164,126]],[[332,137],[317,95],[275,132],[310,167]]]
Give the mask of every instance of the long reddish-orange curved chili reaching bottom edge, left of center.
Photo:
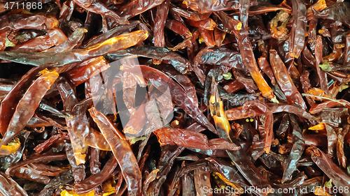
[[[130,149],[130,144],[104,114],[94,107],[90,108],[89,112],[111,146],[111,150],[122,169],[123,176],[127,181],[128,194],[141,195],[141,172],[134,153]]]

